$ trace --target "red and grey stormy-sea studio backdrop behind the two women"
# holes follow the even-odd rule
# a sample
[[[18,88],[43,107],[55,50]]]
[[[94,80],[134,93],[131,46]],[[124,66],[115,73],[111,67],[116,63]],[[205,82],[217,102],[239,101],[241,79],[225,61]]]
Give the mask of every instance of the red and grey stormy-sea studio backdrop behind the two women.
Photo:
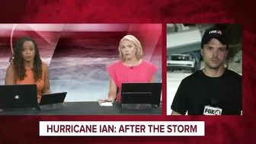
[[[142,43],[142,59],[158,66],[156,80],[161,82],[162,24],[0,24],[0,85],[5,84],[13,44],[28,36],[50,66],[52,92],[67,91],[66,101],[107,98],[107,66],[120,59],[118,46],[126,34]]]

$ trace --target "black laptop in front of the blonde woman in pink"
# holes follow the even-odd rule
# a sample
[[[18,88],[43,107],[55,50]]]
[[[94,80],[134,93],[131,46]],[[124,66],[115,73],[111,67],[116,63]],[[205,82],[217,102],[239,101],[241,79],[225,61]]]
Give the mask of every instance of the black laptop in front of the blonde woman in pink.
[[[120,105],[128,109],[160,107],[162,83],[123,83]]]

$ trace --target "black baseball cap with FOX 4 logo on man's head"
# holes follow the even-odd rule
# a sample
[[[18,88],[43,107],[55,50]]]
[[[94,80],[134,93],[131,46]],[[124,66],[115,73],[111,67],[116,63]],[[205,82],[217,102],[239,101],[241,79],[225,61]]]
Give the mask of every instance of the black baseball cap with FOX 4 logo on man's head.
[[[205,33],[203,34],[202,41],[201,41],[201,49],[203,49],[203,45],[209,43],[209,41],[212,40],[213,38],[216,38],[217,40],[219,40],[220,43],[222,43],[223,45],[227,45],[228,47],[229,40],[225,32],[220,30],[217,27],[213,27],[206,30]]]

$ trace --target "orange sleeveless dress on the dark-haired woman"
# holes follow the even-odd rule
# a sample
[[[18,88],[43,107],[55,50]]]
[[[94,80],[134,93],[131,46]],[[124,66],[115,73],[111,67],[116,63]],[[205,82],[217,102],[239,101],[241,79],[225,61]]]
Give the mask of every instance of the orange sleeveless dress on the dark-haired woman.
[[[43,66],[42,66],[43,67]],[[16,79],[16,85],[37,85],[37,102],[40,103],[42,92],[43,92],[43,86],[44,86],[44,73],[45,69],[43,69],[43,78],[38,81],[34,82],[34,72],[30,68],[26,68],[26,74],[27,77],[24,78],[24,80]]]

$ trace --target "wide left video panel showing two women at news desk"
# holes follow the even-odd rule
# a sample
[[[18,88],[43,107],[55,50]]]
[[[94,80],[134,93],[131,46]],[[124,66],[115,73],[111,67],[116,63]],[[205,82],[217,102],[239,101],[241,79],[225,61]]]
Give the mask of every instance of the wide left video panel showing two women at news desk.
[[[123,83],[156,83],[140,87],[156,88],[151,95],[157,93],[158,108],[152,114],[162,114],[162,86],[158,87],[162,24],[1,24],[0,28],[2,87],[37,85],[39,105],[41,100],[43,105],[53,104],[43,98],[53,95],[54,101],[66,105],[56,114],[120,114],[120,107],[107,102],[121,103]],[[21,101],[24,96],[16,98]]]

